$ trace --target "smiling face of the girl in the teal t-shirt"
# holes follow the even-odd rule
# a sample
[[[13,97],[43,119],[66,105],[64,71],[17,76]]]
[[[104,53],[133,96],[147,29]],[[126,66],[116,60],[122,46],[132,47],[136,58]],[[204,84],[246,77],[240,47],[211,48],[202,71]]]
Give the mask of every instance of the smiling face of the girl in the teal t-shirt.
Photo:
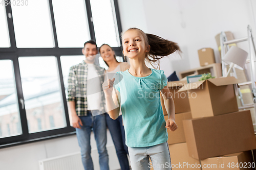
[[[137,30],[129,30],[123,34],[123,55],[129,58],[143,57],[150,51],[150,45],[146,45],[142,34]]]

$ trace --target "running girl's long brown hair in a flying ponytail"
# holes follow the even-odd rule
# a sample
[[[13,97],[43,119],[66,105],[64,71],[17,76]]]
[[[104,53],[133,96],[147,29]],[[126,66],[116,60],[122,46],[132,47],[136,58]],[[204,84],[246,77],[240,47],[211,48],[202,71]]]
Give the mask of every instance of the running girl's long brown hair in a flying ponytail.
[[[145,45],[150,45],[150,52],[146,53],[145,59],[148,60],[151,65],[155,62],[158,62],[159,65],[159,59],[163,58],[164,56],[168,56],[176,51],[178,53],[181,53],[180,47],[176,42],[163,39],[162,37],[154,34],[145,34],[142,30],[138,28],[130,28],[127,31],[129,30],[139,31],[145,40]],[[125,32],[122,33],[122,37]]]

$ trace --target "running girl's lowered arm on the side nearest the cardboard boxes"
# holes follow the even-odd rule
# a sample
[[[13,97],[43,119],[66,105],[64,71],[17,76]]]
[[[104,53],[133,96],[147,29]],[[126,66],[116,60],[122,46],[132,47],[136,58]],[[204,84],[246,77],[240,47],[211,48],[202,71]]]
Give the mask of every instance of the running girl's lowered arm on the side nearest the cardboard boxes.
[[[174,109],[174,100],[172,93],[170,93],[169,88],[165,86],[162,90],[162,95],[164,99],[164,106],[168,113],[168,119],[166,120],[166,128],[171,131],[176,131],[178,126],[175,123],[175,109]]]

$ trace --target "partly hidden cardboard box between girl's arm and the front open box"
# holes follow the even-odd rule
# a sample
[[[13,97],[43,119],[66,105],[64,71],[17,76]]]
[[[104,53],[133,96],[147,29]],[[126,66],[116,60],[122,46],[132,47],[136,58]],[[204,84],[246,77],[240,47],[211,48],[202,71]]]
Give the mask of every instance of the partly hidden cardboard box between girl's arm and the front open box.
[[[175,113],[183,113],[183,112],[190,111],[187,92],[186,91],[178,92],[178,90],[185,84],[187,84],[186,80],[168,82],[170,93],[172,93],[172,96],[174,99]]]

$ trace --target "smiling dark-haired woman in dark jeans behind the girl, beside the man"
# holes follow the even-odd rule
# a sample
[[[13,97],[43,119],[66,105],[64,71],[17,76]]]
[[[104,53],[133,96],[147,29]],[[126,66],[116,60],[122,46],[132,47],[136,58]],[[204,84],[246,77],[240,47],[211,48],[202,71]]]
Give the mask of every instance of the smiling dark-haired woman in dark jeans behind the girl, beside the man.
[[[115,52],[108,44],[102,44],[99,47],[99,53],[106,65],[109,67],[109,69],[106,70],[106,74],[108,74],[108,77],[111,79],[117,71],[125,71],[126,69],[130,68],[130,65],[127,62],[119,63],[116,60]],[[127,158],[128,148],[125,145],[125,135],[121,113],[115,120],[110,118],[109,114],[106,114],[106,125],[110,130],[121,169],[130,170],[129,161]]]

